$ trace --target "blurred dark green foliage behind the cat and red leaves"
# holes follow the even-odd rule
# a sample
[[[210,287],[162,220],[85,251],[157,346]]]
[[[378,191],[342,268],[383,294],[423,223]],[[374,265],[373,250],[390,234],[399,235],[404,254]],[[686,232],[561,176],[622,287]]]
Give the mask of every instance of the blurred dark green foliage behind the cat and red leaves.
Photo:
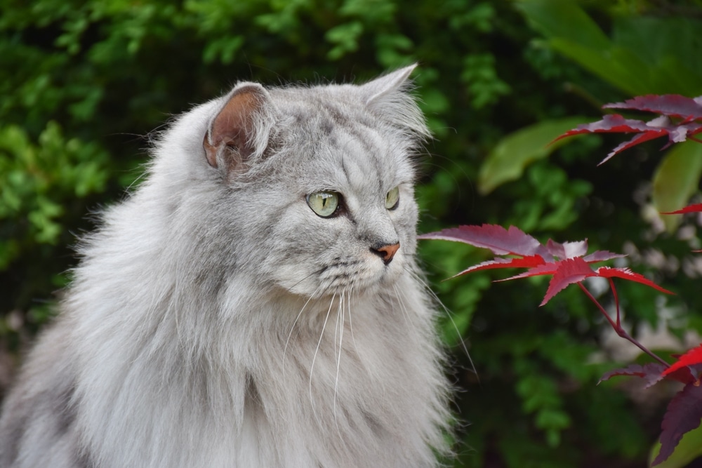
[[[701,201],[702,145],[654,140],[597,167],[628,137],[548,143],[606,102],[702,95],[702,0],[3,0],[0,394],[51,320],[77,236],[138,185],[150,131],[239,80],[361,82],[415,61],[435,135],[420,232],[489,222],[626,253],[618,266],[677,293],[618,282],[627,328],[665,356],[696,345],[701,220],[657,213]],[[486,250],[421,241],[420,255],[460,389],[451,464],[646,466],[677,388],[597,385],[649,358],[581,290],[538,307],[545,278],[442,282]]]

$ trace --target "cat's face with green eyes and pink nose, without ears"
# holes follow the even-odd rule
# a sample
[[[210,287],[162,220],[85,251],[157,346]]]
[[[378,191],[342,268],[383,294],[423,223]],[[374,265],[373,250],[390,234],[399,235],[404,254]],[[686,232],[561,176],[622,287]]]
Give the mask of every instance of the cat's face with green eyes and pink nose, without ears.
[[[319,138],[284,184],[290,203],[276,220],[274,279],[303,295],[391,287],[415,253],[413,168],[377,131],[343,128]]]

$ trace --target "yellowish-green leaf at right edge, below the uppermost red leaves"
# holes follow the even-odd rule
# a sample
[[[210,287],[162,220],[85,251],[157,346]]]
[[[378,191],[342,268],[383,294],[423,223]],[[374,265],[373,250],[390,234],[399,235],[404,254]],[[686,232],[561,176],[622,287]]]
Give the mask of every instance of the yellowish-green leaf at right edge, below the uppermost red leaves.
[[[689,141],[675,145],[656,168],[653,178],[654,207],[658,212],[683,208],[697,192],[702,175],[702,145]],[[682,215],[663,215],[669,232],[680,224]]]

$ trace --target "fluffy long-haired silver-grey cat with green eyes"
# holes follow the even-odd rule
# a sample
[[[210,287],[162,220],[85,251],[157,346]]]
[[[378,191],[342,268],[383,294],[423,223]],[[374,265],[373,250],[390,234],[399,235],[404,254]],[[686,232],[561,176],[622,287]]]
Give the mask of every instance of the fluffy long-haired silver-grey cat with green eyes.
[[[0,467],[437,466],[413,68],[241,82],[154,138],[4,402]]]

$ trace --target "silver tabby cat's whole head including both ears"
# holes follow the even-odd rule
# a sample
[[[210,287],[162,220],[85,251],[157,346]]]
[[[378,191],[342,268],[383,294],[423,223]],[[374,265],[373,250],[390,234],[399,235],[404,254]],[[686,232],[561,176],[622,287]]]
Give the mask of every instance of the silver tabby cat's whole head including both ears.
[[[315,297],[407,274],[413,156],[428,136],[407,93],[413,68],[361,86],[239,83],[218,102],[200,161],[218,184],[217,237],[237,268]]]

